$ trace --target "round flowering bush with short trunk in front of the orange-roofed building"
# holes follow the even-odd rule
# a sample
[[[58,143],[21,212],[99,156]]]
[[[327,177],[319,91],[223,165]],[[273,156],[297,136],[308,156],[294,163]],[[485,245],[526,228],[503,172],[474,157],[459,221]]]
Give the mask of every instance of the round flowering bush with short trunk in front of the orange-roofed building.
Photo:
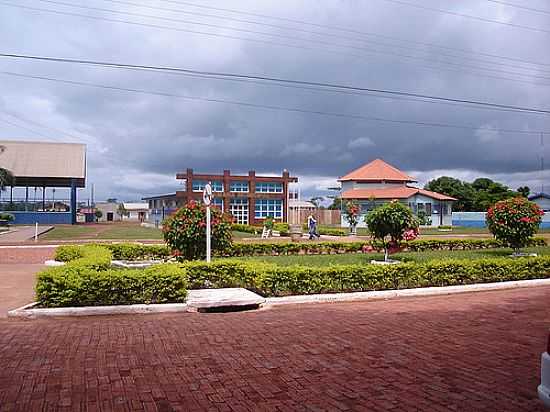
[[[403,240],[418,236],[418,220],[407,206],[392,201],[367,213],[367,227],[375,240],[384,246],[384,260],[400,249]]]

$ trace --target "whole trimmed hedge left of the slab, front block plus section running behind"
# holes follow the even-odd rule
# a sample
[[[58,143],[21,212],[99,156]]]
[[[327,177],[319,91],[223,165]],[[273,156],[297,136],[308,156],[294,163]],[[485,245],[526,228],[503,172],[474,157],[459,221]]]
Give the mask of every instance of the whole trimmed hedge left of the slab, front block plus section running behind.
[[[141,245],[60,246],[55,258],[65,266],[52,267],[38,275],[36,297],[45,307],[127,305],[135,303],[184,302],[187,275],[177,264],[147,269],[113,269],[117,258],[158,257],[160,249]],[[134,248],[138,246],[138,248]],[[167,249],[167,248],[165,248]]]

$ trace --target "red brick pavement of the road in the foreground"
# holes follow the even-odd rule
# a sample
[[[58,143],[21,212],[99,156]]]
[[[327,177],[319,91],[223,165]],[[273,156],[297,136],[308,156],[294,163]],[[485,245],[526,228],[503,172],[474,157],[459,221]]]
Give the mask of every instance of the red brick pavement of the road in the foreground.
[[[0,320],[2,411],[542,411],[550,288]]]

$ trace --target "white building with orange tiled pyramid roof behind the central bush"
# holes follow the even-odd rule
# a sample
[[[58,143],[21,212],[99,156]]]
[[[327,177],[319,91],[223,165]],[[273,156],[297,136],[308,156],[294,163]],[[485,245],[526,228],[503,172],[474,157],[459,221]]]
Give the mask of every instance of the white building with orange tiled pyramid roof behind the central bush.
[[[376,159],[338,179],[343,200],[356,201],[360,208],[359,227],[365,227],[364,216],[383,203],[397,200],[409,206],[415,215],[423,214],[431,226],[452,225],[452,205],[456,200],[441,193],[420,189],[410,184],[416,180]],[[348,226],[342,216],[342,226]]]

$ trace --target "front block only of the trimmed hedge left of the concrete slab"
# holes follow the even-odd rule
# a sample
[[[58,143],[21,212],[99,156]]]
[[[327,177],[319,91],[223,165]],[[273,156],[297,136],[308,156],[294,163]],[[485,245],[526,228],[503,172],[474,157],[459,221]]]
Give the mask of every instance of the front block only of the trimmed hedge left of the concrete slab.
[[[84,264],[46,269],[36,297],[45,307],[177,303],[187,296],[187,274],[176,264],[147,269],[97,270]]]

